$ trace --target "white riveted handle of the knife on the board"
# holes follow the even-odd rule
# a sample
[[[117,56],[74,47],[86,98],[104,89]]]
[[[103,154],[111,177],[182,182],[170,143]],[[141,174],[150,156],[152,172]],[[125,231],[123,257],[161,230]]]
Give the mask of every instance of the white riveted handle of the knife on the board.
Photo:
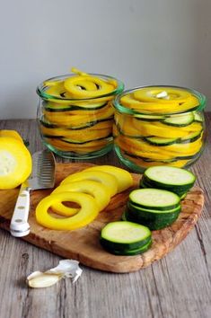
[[[10,224],[10,233],[15,237],[22,237],[30,233],[28,216],[30,211],[30,190],[21,188],[16,201]]]

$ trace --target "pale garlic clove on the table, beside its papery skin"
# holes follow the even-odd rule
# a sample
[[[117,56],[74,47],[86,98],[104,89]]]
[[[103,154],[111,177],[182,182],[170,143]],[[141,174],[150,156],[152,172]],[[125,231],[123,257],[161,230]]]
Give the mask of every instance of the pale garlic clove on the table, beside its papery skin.
[[[44,288],[56,284],[60,278],[61,275],[58,274],[48,274],[37,271],[27,278],[27,283],[32,288]]]

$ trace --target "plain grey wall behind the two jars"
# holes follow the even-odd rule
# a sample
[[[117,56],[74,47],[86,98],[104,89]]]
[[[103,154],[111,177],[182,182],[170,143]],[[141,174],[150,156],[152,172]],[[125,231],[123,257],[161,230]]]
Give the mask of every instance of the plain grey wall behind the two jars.
[[[37,84],[72,66],[126,88],[175,84],[211,98],[211,0],[0,4],[0,119],[36,118]]]

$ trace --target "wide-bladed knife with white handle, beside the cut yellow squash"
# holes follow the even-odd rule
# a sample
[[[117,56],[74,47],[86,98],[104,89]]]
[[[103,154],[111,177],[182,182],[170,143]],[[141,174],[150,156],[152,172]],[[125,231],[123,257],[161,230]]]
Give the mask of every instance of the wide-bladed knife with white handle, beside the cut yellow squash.
[[[22,183],[10,224],[10,233],[22,237],[30,233],[28,216],[30,211],[30,191],[50,189],[55,184],[56,161],[49,150],[32,155],[32,172],[28,180]]]

